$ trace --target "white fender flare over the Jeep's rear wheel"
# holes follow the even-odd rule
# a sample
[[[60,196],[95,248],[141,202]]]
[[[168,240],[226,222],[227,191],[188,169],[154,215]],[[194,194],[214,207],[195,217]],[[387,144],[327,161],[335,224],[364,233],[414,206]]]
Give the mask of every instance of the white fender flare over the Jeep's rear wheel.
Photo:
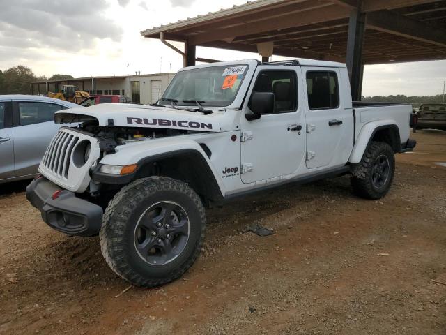
[[[373,141],[389,144],[394,152],[401,151],[399,128],[394,121],[381,122],[380,124],[371,122],[362,127],[348,162],[360,163]]]

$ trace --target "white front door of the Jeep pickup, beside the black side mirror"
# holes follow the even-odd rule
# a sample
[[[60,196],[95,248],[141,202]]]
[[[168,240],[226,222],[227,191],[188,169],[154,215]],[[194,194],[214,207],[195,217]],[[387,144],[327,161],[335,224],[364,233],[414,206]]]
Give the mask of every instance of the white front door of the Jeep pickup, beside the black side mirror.
[[[298,104],[300,68],[296,66],[262,66],[254,73],[249,89],[241,130],[241,178],[243,183],[268,182],[293,174],[302,162],[305,132],[299,130],[304,121],[305,106]],[[274,110],[260,119],[247,121],[249,97],[253,91],[275,94]]]

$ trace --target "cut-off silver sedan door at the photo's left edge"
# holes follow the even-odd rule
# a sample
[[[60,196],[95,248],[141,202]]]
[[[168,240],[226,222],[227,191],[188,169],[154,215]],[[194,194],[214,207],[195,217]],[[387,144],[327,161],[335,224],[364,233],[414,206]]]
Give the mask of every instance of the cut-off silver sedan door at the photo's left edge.
[[[10,101],[0,101],[0,179],[14,177],[13,112]]]

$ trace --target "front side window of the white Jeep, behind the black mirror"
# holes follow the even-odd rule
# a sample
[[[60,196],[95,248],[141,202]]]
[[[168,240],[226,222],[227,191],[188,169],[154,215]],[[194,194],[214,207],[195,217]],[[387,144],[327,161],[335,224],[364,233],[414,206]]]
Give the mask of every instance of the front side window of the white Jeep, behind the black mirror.
[[[272,92],[274,112],[294,112],[298,106],[298,87],[294,71],[263,70],[259,73],[253,91]]]

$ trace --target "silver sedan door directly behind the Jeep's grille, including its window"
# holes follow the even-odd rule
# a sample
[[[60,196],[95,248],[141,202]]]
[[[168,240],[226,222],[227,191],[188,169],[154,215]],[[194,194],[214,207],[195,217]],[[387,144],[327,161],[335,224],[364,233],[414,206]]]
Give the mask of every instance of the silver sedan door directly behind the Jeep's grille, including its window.
[[[60,127],[54,123],[54,113],[63,109],[63,105],[43,101],[13,102],[17,177],[37,173],[40,160]]]

